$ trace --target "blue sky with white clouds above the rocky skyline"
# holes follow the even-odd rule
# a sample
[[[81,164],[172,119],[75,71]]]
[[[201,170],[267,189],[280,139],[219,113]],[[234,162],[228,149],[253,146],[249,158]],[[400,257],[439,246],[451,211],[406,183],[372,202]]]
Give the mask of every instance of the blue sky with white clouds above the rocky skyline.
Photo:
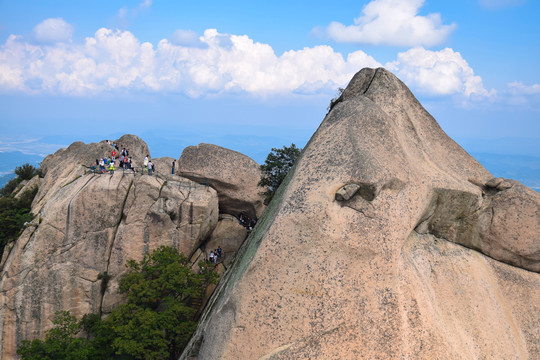
[[[303,146],[363,67],[467,150],[540,156],[540,2],[0,0],[0,152]]]

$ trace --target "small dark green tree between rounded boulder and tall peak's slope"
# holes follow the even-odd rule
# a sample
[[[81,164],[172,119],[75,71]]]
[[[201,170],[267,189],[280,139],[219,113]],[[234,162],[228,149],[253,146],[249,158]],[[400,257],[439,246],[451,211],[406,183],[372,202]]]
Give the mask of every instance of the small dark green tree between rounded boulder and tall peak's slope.
[[[301,151],[302,149],[297,148],[294,144],[288,147],[283,146],[282,149],[272,148],[264,164],[261,165],[262,175],[261,181],[259,181],[259,186],[267,188],[265,192],[266,203],[272,200],[279,185],[293,167]]]

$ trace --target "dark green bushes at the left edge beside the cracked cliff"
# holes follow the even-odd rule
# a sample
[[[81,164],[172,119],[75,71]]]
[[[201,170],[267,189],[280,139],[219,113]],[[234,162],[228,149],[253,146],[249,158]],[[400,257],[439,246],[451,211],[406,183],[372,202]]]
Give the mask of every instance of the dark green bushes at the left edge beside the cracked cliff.
[[[15,169],[17,177],[0,189],[0,258],[7,243],[17,239],[24,229],[24,224],[34,218],[30,210],[37,187],[25,191],[18,199],[13,196],[13,190],[23,180],[29,180],[38,173],[38,169],[30,164],[19,166]]]

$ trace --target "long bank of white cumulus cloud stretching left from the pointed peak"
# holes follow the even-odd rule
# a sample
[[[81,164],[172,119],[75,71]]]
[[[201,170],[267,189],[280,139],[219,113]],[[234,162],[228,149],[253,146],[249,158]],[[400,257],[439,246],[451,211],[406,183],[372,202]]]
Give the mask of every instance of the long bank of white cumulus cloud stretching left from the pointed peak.
[[[214,29],[199,41],[204,46],[163,39],[154,47],[129,31],[102,28],[82,44],[40,46],[11,35],[0,46],[0,89],[79,96],[133,89],[190,96],[314,93],[347,84],[363,67],[380,66],[363,51],[344,59],[329,46],[277,56],[268,44]]]

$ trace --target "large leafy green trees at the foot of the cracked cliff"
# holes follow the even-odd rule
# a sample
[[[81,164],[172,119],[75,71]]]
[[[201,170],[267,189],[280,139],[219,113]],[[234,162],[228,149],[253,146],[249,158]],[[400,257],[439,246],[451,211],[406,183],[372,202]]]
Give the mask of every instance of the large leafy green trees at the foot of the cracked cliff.
[[[87,314],[77,321],[59,312],[44,341],[23,340],[17,353],[23,360],[177,359],[197,326],[189,299],[217,280],[203,265],[194,273],[189,260],[171,247],[160,247],[140,262],[130,260],[119,280],[126,304],[105,319]]]

